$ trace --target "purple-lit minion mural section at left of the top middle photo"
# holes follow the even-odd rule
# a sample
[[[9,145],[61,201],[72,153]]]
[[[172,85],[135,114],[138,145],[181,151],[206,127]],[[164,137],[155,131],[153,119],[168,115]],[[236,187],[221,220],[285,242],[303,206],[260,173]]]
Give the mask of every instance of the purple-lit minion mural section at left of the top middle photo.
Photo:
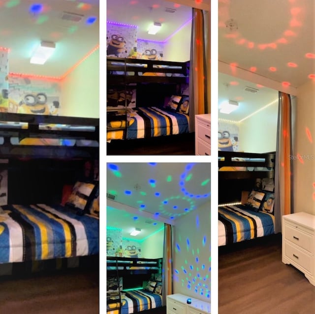
[[[137,28],[107,22],[107,56],[108,57],[136,57]]]

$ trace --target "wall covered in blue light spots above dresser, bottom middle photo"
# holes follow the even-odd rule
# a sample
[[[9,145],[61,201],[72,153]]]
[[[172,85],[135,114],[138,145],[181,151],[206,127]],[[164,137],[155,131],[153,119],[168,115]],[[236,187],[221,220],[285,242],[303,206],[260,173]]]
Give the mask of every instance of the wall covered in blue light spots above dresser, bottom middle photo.
[[[174,242],[174,293],[211,302],[210,201],[176,220]]]

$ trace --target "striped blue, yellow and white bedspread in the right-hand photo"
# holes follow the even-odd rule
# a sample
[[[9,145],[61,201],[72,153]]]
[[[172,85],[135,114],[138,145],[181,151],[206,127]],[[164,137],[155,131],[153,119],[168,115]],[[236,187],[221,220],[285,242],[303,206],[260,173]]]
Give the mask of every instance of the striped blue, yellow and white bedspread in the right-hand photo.
[[[275,232],[272,214],[246,209],[244,205],[219,207],[219,246],[250,240]]]

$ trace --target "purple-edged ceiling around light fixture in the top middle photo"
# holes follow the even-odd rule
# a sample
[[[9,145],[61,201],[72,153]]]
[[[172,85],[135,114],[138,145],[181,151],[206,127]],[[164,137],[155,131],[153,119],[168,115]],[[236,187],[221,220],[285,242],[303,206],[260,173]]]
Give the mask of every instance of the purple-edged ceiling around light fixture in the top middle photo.
[[[191,6],[207,7],[209,0],[107,0],[107,21],[137,26],[139,39],[167,41],[178,29],[191,20]],[[191,5],[191,6],[189,6]],[[209,5],[210,6],[210,5]],[[161,23],[156,35],[148,34],[153,22]],[[190,36],[190,34],[188,35]]]

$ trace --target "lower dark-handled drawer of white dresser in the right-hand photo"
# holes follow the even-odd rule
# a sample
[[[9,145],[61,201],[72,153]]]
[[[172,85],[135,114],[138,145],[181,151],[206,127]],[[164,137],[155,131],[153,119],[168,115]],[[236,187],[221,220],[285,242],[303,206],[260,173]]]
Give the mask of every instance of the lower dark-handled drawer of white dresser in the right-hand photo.
[[[313,274],[314,261],[312,256],[302,252],[288,242],[284,242],[284,256],[290,259],[292,264],[301,271],[307,271],[308,273]]]

